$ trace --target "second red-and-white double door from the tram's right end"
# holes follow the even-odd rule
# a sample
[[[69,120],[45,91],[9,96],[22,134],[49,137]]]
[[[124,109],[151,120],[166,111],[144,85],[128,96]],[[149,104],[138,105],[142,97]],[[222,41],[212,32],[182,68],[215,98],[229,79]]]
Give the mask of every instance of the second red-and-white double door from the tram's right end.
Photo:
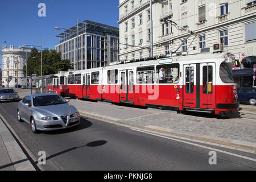
[[[134,102],[134,69],[120,71],[120,101]]]

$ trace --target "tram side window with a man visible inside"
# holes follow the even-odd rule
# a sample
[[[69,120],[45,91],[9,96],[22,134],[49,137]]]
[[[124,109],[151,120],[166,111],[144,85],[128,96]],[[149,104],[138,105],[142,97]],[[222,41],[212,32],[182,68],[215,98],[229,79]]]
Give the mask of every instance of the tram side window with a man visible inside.
[[[179,72],[180,72],[180,65],[175,64],[164,64],[158,65],[156,67],[156,82],[159,83],[159,72],[160,69],[164,68],[164,76],[169,77],[165,78],[161,84],[177,84],[180,81]],[[159,83],[160,84],[160,83]]]

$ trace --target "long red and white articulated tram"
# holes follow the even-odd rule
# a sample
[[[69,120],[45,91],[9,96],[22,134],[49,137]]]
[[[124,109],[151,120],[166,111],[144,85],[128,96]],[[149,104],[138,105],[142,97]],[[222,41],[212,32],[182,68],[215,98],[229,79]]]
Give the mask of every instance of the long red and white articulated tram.
[[[214,114],[239,108],[232,78],[233,55],[225,52],[157,58],[65,72],[61,83],[66,95],[89,100]],[[169,79],[159,81],[162,68]]]

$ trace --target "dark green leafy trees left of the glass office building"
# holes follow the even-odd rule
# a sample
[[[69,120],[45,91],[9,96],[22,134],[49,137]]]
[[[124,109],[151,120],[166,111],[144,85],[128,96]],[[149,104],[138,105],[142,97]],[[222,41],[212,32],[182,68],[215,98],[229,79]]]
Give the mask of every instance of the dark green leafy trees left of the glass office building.
[[[55,50],[44,50],[42,52],[42,75],[53,75],[59,71],[70,69],[70,60],[61,60],[61,53]],[[23,74],[26,75],[26,65],[23,67]],[[27,60],[27,75],[41,76],[41,52],[33,48]]]

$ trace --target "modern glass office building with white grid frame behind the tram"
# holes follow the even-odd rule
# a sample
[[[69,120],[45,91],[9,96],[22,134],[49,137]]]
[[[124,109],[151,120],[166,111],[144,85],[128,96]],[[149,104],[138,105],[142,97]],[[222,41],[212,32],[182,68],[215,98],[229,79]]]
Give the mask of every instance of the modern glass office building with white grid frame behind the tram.
[[[104,67],[119,60],[119,28],[89,20],[56,37],[62,59],[69,59],[75,70]],[[77,39],[78,37],[78,39]]]

